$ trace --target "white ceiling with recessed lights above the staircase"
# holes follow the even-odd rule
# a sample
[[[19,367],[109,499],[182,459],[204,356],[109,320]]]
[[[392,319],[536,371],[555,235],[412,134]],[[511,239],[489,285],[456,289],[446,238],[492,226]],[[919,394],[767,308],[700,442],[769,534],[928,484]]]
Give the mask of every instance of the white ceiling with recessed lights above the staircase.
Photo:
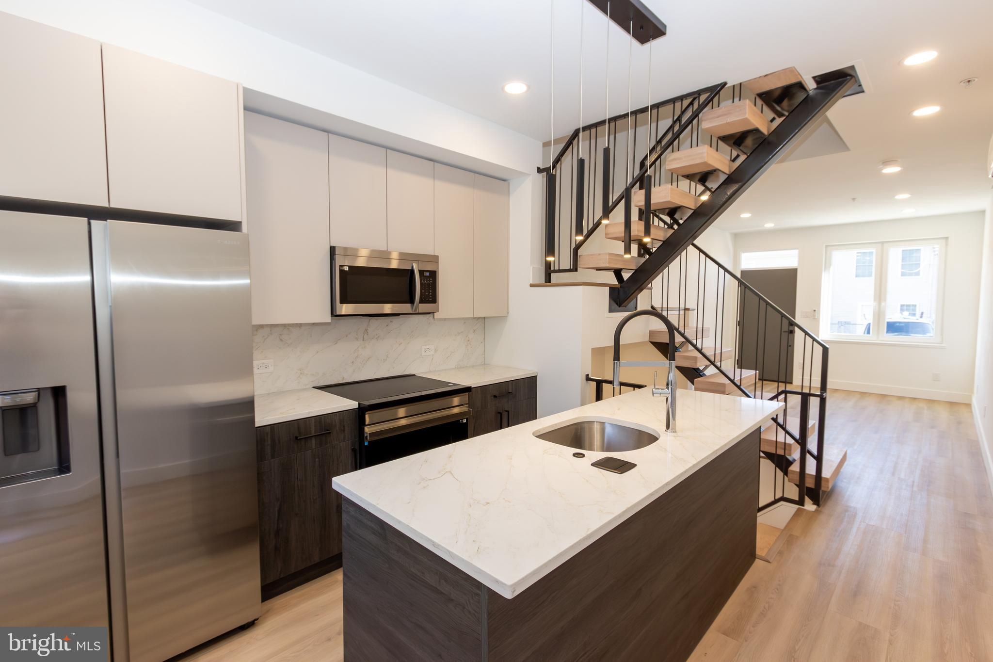
[[[549,0],[194,0],[224,16],[539,140],[604,116],[606,18],[586,0],[554,0],[554,132]],[[719,226],[731,231],[929,215],[985,207],[993,133],[990,0],[645,0],[669,34],[651,51],[651,97],[796,66],[810,76],[858,63],[866,94],[829,114],[850,151],[774,167]],[[631,40],[610,27],[611,113],[628,107]],[[923,50],[938,58],[908,67]],[[635,43],[632,103],[646,102],[648,47]],[[962,78],[979,81],[965,89]],[[526,81],[520,96],[501,91]],[[320,81],[315,81],[320,84]],[[389,103],[389,99],[370,99]],[[941,112],[912,117],[923,105]],[[397,109],[402,112],[402,108]],[[880,175],[879,162],[904,171]],[[913,198],[895,200],[899,193]],[[854,200],[853,200],[854,199]],[[904,213],[905,208],[915,212]],[[739,213],[750,211],[748,219]]]

